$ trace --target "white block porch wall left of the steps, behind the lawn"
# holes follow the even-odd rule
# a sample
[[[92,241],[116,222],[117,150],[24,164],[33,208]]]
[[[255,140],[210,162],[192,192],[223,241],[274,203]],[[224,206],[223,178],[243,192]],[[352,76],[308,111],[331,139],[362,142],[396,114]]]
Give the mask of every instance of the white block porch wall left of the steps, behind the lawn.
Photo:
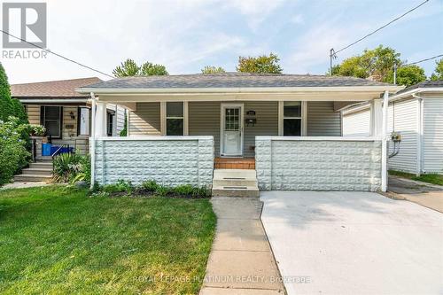
[[[96,140],[96,181],[119,179],[139,184],[210,187],[214,170],[213,136],[103,137]]]

